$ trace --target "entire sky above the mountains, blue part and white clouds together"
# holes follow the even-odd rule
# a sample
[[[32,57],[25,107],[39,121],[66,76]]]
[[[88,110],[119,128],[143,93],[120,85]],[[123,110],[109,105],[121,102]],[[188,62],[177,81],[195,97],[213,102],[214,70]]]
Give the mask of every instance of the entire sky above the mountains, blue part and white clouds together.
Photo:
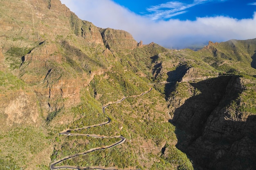
[[[82,20],[167,48],[256,38],[256,0],[61,0]]]

